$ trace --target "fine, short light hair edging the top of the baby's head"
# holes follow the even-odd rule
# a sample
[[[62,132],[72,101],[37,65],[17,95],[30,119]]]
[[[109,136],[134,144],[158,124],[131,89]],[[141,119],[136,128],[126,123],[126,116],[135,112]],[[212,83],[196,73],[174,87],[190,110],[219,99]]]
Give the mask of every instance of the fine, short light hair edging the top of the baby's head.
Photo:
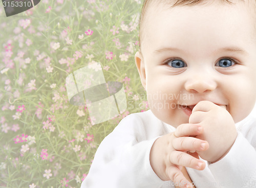
[[[219,2],[223,3],[229,3],[233,4],[232,2],[228,0],[218,0]],[[242,2],[245,2],[245,0],[240,0]],[[140,54],[142,56],[142,51],[141,51],[141,46],[142,46],[142,41],[145,37],[145,24],[147,23],[147,13],[148,9],[151,7],[154,7],[154,9],[157,9],[159,5],[171,5],[169,8],[177,7],[177,6],[193,6],[193,5],[198,5],[198,4],[204,4],[204,0],[144,0],[142,9],[141,9],[141,14],[140,14],[140,23],[139,23],[139,44],[140,44]],[[256,20],[256,0],[248,0],[248,9],[249,13],[252,14],[252,16]],[[254,33],[256,33],[256,24],[254,25]],[[255,35],[256,36],[256,35]],[[256,37],[255,37],[256,38]],[[143,57],[143,56],[142,56]]]

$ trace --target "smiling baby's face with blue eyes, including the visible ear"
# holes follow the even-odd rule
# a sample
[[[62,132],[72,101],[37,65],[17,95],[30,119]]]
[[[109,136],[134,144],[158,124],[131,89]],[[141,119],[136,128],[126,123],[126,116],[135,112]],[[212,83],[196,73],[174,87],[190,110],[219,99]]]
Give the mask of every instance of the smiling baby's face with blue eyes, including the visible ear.
[[[235,122],[256,99],[256,33],[242,1],[149,10],[136,65],[148,104],[174,127],[201,100],[224,106]],[[254,36],[253,36],[254,35]]]

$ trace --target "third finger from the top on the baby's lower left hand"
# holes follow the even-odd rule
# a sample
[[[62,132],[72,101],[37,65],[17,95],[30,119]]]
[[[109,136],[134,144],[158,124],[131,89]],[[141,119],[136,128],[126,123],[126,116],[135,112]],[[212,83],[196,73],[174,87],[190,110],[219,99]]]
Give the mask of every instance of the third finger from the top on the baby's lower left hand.
[[[176,165],[186,166],[196,170],[204,170],[205,163],[185,152],[173,151],[170,154],[170,162]]]

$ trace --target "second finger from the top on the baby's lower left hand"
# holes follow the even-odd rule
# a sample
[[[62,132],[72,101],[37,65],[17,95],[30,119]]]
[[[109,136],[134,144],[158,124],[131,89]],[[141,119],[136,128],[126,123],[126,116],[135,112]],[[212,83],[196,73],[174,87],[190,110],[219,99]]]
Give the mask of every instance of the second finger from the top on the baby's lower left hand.
[[[173,148],[177,151],[205,151],[208,149],[208,142],[195,137],[178,137],[172,140]]]

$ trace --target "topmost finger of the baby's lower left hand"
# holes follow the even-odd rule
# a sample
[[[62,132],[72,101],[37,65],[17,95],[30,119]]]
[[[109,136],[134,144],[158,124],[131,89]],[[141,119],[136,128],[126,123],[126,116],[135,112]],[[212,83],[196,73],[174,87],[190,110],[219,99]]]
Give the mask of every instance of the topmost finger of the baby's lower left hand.
[[[177,127],[174,135],[176,137],[199,135],[202,133],[202,130],[203,127],[200,124],[184,123]]]

